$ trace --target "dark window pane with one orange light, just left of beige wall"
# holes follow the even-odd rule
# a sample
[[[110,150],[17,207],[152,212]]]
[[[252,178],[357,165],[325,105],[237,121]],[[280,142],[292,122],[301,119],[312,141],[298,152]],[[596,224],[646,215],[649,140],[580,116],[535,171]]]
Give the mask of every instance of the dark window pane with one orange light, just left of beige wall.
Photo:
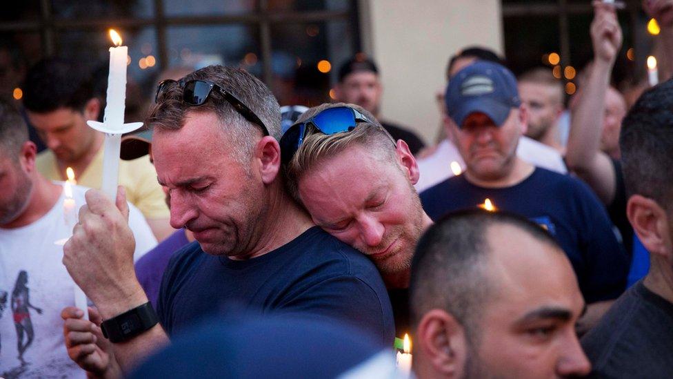
[[[337,80],[339,65],[355,53],[352,33],[345,21],[272,26],[272,88],[281,105],[330,101],[330,84]],[[323,72],[320,61],[329,62],[321,64]]]

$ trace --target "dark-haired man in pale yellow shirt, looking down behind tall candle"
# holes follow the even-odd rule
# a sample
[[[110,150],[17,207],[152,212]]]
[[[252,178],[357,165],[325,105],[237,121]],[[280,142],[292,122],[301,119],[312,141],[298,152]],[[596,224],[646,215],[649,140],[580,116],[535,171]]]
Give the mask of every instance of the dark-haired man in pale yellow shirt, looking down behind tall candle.
[[[67,167],[82,186],[101,188],[103,133],[87,126],[101,117],[101,99],[93,93],[90,77],[70,61],[44,59],[26,75],[23,106],[48,150],[37,156],[37,169],[52,180],[65,180]],[[157,239],[172,233],[168,207],[148,157],[119,162],[119,183],[128,200],[145,215]]]

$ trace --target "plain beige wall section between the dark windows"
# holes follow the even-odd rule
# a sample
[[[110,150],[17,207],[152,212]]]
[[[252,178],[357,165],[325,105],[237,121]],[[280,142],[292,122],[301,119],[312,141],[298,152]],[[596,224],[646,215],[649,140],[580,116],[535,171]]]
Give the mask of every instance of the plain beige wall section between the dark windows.
[[[363,50],[383,81],[383,119],[431,142],[439,128],[434,94],[450,55],[478,44],[502,53],[499,0],[361,0]]]

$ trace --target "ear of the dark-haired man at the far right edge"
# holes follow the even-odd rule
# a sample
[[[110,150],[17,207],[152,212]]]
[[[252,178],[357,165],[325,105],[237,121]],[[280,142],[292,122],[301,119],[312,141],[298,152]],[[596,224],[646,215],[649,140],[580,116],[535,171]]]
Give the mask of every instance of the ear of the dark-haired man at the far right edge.
[[[653,254],[667,255],[670,229],[666,212],[654,200],[633,195],[626,204],[626,215],[645,249]]]

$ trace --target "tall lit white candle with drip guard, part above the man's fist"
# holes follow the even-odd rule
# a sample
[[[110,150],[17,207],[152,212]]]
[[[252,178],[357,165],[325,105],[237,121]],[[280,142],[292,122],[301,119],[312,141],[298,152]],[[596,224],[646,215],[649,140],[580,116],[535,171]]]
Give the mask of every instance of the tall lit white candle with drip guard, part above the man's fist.
[[[121,46],[121,37],[110,29],[110,38],[115,47],[110,48],[110,73],[108,74],[108,93],[106,97],[103,122],[88,121],[87,124],[96,130],[106,133],[103,144],[103,182],[101,190],[114,202],[117,198],[119,183],[119,151],[121,135],[132,132],[143,126],[142,122],[124,124],[126,100],[126,61],[128,47]]]

